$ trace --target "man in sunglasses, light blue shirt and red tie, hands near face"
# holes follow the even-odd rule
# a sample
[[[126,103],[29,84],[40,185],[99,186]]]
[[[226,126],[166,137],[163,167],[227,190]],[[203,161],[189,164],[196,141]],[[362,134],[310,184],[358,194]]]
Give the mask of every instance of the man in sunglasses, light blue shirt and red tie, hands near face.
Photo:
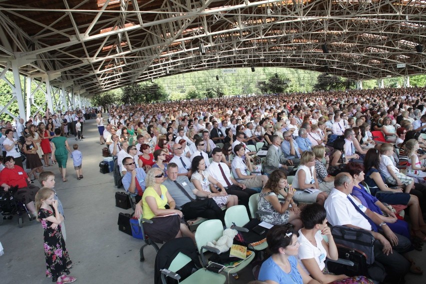
[[[136,203],[142,198],[145,190],[146,173],[141,167],[136,168],[136,162],[132,157],[122,159],[123,167],[126,170],[121,182],[123,183],[126,192],[134,196]]]

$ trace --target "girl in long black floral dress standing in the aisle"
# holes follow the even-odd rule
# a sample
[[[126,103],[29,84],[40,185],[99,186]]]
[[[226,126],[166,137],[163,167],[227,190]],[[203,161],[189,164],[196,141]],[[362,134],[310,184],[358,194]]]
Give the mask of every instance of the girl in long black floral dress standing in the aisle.
[[[35,194],[35,206],[38,210],[38,220],[44,229],[44,255],[46,257],[46,277],[52,277],[56,284],[74,282],[77,278],[69,274],[71,259],[65,247],[60,223],[63,216],[58,210],[58,201],[51,188],[42,187]]]

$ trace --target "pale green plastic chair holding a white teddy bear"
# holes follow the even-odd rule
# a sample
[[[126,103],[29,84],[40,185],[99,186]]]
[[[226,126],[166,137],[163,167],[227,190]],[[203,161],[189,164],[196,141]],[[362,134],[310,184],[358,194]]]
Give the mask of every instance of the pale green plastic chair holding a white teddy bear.
[[[247,211],[245,211],[245,214],[247,214]],[[197,230],[195,231],[196,246],[201,256],[202,264],[204,266],[206,266],[207,264],[204,257],[204,252],[212,251],[217,253],[218,251],[218,249],[215,249],[213,247],[208,247],[206,245],[207,241],[217,240],[219,237],[222,236],[222,234],[223,234],[223,225],[222,225],[222,222],[217,219],[206,220],[205,222],[202,222],[198,226]],[[242,270],[254,259],[254,255],[255,255],[254,252],[252,252],[246,259],[241,261],[236,266],[226,266],[225,269],[223,269],[223,272],[227,274],[228,279],[229,279],[229,273],[236,273]]]

